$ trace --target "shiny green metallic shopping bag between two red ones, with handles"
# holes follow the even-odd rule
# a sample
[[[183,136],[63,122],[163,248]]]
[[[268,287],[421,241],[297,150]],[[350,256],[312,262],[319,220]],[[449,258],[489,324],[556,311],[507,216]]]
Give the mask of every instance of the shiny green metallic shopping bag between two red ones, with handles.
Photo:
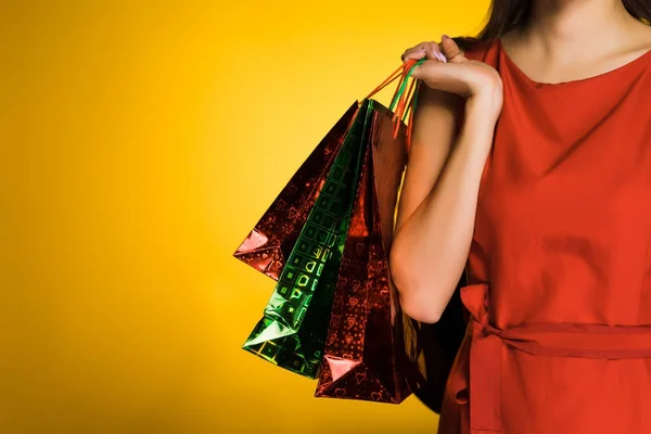
[[[399,116],[406,117],[409,113],[405,100],[409,93],[405,92],[406,67],[396,71],[359,103],[334,163],[280,270],[264,317],[243,346],[245,350],[298,374],[318,375],[359,170],[376,114],[376,103],[370,97],[393,80],[403,78],[393,100],[396,113],[390,117],[392,128],[388,132],[396,137],[399,128],[393,126],[401,125]]]

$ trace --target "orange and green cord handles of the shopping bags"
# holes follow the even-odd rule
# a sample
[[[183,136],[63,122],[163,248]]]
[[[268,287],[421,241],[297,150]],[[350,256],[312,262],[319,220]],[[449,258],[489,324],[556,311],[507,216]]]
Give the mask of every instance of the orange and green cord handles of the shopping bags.
[[[413,112],[416,110],[416,104],[418,102],[418,91],[421,85],[420,80],[411,79],[409,84],[409,79],[411,78],[411,74],[416,66],[421,65],[425,62],[426,59],[421,60],[408,60],[400,65],[393,74],[391,74],[380,86],[369,93],[366,98],[371,99],[382,89],[386,88],[388,85],[400,79],[398,81],[398,86],[394,92],[392,98],[391,105],[388,107],[390,111],[394,112],[393,122],[395,124],[394,127],[394,139],[398,137],[398,131],[400,130],[400,124],[407,123],[407,148],[411,144],[411,131],[413,125]],[[409,84],[409,88],[407,88]]]

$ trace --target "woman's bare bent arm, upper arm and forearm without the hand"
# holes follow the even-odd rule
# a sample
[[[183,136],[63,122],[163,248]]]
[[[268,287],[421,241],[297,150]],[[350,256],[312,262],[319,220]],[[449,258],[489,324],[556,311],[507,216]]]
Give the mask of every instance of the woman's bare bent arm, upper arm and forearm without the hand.
[[[436,322],[463,272],[500,94],[501,88],[470,97],[458,137],[459,97],[429,89],[419,99],[390,253],[403,310],[416,320]]]

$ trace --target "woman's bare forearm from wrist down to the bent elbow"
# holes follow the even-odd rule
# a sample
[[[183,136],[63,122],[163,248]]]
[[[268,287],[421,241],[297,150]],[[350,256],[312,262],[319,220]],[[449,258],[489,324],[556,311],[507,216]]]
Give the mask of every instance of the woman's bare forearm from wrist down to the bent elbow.
[[[390,264],[403,310],[419,321],[438,320],[468,259],[496,123],[487,115],[488,104],[468,101],[463,125],[434,188],[393,242]]]

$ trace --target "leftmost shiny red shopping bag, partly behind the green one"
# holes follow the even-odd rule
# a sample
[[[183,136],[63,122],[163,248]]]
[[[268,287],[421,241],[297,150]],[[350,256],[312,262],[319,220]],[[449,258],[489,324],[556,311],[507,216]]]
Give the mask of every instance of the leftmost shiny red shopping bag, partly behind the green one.
[[[359,110],[353,104],[292,176],[234,257],[278,280]]]

